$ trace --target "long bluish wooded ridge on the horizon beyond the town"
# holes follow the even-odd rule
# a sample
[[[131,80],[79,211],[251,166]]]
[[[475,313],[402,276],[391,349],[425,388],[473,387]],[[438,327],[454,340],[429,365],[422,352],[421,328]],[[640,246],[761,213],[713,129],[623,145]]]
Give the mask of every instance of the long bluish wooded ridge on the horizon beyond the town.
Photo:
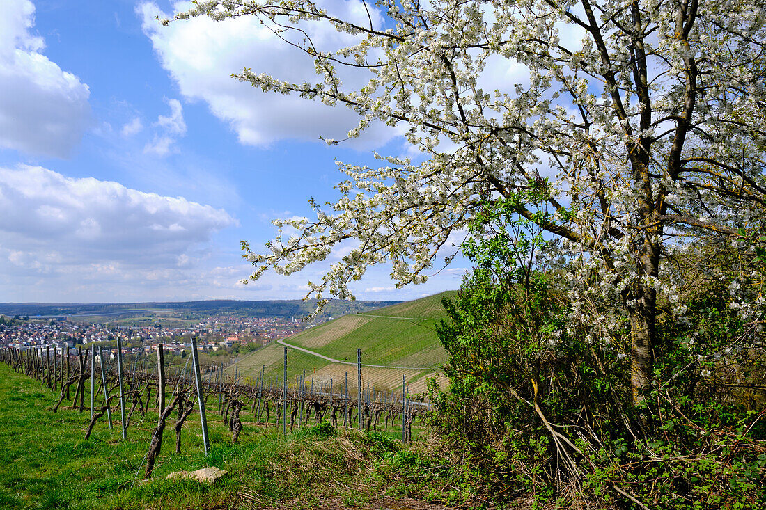
[[[329,302],[320,318],[387,306],[401,301],[345,301]],[[67,315],[136,315],[145,312],[196,312],[205,315],[239,315],[242,317],[304,317],[313,312],[315,300],[273,299],[269,301],[237,301],[212,299],[185,302],[131,302],[131,303],[0,303],[0,315],[67,316]]]

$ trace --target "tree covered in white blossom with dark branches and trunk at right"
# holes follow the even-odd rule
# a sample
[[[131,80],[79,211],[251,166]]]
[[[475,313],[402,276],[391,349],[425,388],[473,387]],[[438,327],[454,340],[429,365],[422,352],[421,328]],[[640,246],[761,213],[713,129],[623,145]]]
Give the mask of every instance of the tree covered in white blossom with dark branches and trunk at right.
[[[663,277],[667,257],[702,237],[754,247],[764,232],[764,2],[356,5],[363,14],[353,19],[306,0],[213,0],[176,15],[256,16],[313,57],[318,77],[288,83],[244,69],[239,80],[355,110],[350,137],[375,121],[398,126],[423,154],[341,165],[348,178],[336,204],[274,222],[299,234],[280,235],[266,253],[243,243],[256,266],[250,278],[301,270],[352,239],[352,252],[310,283],[320,302],[351,296],[349,282],[371,264],[390,262],[400,285],[421,283],[480,204],[548,178],[545,208],[518,201],[516,214],[560,240],[552,256],[573,271],[571,320],[629,356],[639,404],[653,377],[658,293],[674,302],[673,281],[683,281]],[[322,47],[315,24],[352,44]],[[511,67],[523,71],[518,83],[498,84]],[[349,87],[342,78],[351,75],[364,86]],[[611,312],[592,312],[594,296]],[[758,302],[749,304],[743,312],[757,314]],[[626,323],[620,344],[614,335]]]

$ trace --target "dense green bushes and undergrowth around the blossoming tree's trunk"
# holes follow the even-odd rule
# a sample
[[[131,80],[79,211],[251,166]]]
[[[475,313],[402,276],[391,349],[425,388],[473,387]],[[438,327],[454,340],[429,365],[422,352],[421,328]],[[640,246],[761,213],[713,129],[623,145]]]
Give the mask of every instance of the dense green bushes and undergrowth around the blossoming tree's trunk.
[[[660,302],[653,392],[637,408],[627,359],[571,326],[565,279],[533,260],[547,241],[513,208],[488,204],[476,218],[473,271],[437,329],[449,385],[431,384],[428,420],[466,498],[764,508],[764,343],[725,291],[745,254],[712,247],[704,263],[678,262],[696,285],[680,296],[683,320]]]

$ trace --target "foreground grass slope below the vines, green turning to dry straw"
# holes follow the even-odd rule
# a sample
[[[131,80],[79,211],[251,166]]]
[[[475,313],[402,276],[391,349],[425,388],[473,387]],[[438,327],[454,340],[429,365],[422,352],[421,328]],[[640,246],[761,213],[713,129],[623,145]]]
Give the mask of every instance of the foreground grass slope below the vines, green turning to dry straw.
[[[250,423],[245,410],[240,442],[208,405],[211,452],[201,448],[198,420],[192,414],[182,435],[182,454],[175,454],[173,420],[165,429],[162,456],[152,481],[139,483],[143,458],[155,425],[156,410],[136,413],[128,439],[119,439],[119,411],[110,433],[100,421],[89,440],[83,414],[50,407],[53,391],[0,364],[0,508],[342,508],[381,504],[409,506],[408,495],[430,492],[442,482],[422,473],[385,473],[401,464],[398,442],[367,437],[353,430],[322,440],[309,430],[283,437],[275,427]],[[86,398],[87,400],[87,398]],[[272,414],[273,416],[273,414]],[[392,432],[389,437],[395,437]],[[404,453],[410,459],[413,453]],[[387,460],[388,459],[388,460]],[[393,463],[393,464],[392,464]],[[212,487],[169,481],[177,470],[218,466],[230,472]],[[136,474],[138,476],[136,476]],[[442,485],[443,486],[443,485]],[[425,508],[418,506],[418,508]],[[429,507],[431,508],[431,507]]]

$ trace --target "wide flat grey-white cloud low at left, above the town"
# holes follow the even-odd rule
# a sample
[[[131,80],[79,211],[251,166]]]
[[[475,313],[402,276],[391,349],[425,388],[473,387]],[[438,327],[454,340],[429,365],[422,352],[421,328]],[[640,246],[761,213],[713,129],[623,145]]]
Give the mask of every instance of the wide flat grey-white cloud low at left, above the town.
[[[181,197],[41,167],[0,168],[2,250],[38,273],[83,264],[97,272],[114,264],[189,266],[214,232],[235,224],[226,211]]]

